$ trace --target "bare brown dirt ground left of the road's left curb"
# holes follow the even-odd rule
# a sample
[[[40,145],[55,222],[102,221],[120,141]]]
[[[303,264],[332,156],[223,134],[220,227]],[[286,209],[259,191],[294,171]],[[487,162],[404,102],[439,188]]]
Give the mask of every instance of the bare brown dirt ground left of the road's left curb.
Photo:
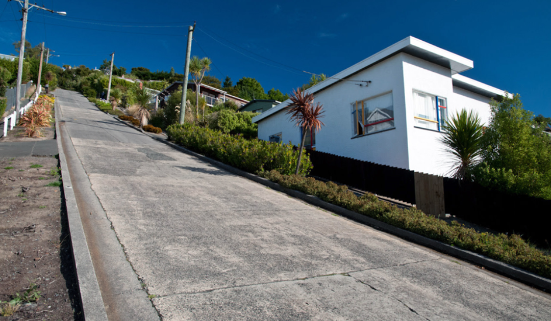
[[[2,321],[83,319],[60,183],[55,157],[0,157]]]

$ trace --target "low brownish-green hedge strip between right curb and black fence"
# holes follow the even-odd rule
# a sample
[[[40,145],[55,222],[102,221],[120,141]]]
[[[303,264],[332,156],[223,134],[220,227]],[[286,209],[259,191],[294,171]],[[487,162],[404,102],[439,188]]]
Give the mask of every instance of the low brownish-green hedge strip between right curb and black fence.
[[[348,191],[346,186],[339,186],[333,182],[320,182],[312,177],[285,176],[277,171],[262,172],[259,175],[285,188],[314,195],[325,202],[342,206],[404,230],[487,255],[545,278],[551,278],[551,257],[534,248],[518,235],[480,233],[456,221],[448,224],[434,216],[425,215],[418,209],[401,209],[396,205],[378,200],[370,193],[357,197]]]

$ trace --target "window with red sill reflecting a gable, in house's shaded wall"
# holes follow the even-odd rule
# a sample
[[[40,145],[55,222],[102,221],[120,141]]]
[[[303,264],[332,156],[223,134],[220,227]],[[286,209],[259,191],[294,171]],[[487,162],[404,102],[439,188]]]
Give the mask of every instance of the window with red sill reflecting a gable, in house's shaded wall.
[[[392,93],[353,102],[352,119],[354,136],[394,128]]]

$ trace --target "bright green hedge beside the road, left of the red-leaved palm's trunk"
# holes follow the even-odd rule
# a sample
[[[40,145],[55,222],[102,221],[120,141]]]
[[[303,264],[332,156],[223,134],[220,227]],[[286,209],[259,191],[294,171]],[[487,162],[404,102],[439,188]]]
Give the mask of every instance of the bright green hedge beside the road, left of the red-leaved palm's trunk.
[[[298,151],[291,144],[247,140],[241,135],[229,135],[191,124],[176,124],[166,128],[170,140],[199,154],[241,168],[247,172],[278,170],[285,174],[295,172]],[[307,153],[302,155],[300,175],[310,173],[312,163]]]

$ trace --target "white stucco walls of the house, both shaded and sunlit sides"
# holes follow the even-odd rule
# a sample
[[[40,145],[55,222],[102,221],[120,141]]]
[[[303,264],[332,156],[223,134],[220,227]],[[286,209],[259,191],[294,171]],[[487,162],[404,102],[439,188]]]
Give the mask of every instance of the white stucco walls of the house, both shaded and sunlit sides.
[[[369,86],[341,81],[314,95],[323,104],[325,123],[316,135],[316,150],[407,168],[435,175],[446,175],[452,159],[440,142],[442,133],[415,127],[413,91],[444,97],[448,115],[466,108],[477,111],[488,123],[489,97],[453,86],[451,70],[407,53],[398,53],[349,79],[371,80]],[[392,93],[395,128],[353,138],[352,104],[374,96]],[[300,144],[300,130],[280,111],[258,122],[258,138],[282,133],[284,143]]]

